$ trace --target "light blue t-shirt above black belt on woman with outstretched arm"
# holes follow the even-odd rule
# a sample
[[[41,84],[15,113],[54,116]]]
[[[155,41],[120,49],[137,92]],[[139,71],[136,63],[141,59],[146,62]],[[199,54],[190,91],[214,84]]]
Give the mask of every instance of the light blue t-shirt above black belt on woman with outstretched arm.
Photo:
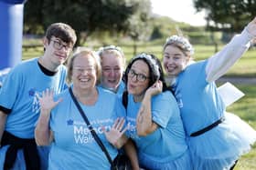
[[[188,65],[172,85],[187,135],[216,122],[225,111],[215,83],[206,81],[207,62]]]

